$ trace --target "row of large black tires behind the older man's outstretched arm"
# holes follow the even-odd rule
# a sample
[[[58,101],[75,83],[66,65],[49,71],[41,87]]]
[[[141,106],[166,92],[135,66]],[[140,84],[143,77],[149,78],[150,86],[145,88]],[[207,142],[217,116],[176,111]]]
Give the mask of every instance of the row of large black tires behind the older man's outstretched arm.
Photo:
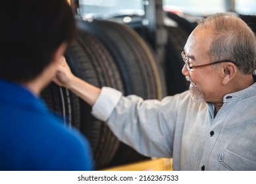
[[[77,18],[77,25],[76,38],[65,53],[74,75],[97,87],[113,87],[124,95],[165,97],[163,68],[132,28],[108,20],[81,18]],[[91,116],[91,106],[68,89],[51,83],[41,97],[66,126],[76,127],[88,138],[97,170],[148,159],[120,143],[104,122]]]

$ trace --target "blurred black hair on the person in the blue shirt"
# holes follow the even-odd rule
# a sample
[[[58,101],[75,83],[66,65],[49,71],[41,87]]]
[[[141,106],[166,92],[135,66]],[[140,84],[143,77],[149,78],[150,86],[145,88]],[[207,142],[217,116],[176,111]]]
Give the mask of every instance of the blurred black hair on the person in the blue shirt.
[[[1,1],[0,9],[0,79],[32,81],[72,39],[72,10],[66,0]]]

